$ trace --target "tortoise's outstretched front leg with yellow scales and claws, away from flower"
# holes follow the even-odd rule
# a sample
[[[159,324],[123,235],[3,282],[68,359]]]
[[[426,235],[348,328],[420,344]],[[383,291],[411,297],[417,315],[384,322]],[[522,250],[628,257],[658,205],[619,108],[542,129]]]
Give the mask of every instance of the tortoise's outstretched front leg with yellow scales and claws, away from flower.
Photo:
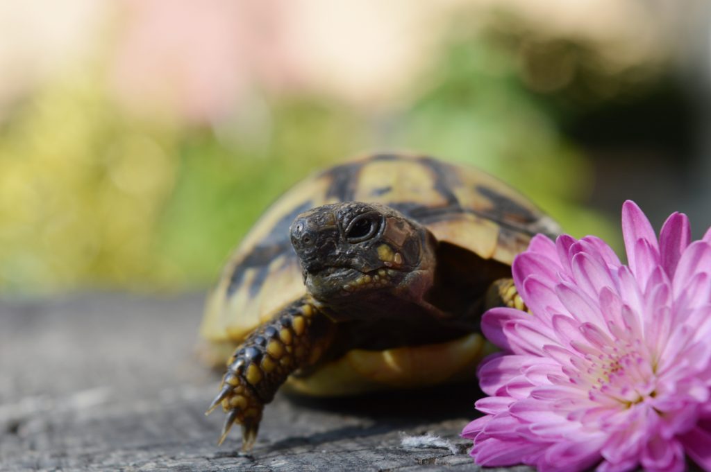
[[[291,373],[319,361],[334,332],[331,319],[303,297],[247,336],[230,357],[220,393],[205,413],[219,405],[227,413],[219,444],[237,422],[242,424],[242,451],[252,449],[264,405]]]

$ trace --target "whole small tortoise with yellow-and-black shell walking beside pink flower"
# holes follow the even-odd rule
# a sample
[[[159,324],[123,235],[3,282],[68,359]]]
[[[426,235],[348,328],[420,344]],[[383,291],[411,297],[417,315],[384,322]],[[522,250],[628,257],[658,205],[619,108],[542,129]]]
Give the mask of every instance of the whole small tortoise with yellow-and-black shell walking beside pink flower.
[[[469,378],[481,314],[522,307],[510,264],[550,218],[494,177],[370,155],[304,180],[255,224],[208,297],[201,336],[228,358],[208,414],[242,449],[285,387],[311,395]],[[231,353],[231,355],[230,355]]]

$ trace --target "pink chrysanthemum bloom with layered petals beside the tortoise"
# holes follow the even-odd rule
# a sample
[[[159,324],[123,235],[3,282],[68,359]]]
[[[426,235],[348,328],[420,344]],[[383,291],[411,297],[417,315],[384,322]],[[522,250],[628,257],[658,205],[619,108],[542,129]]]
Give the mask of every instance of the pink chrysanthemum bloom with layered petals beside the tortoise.
[[[486,415],[462,435],[482,466],[711,471],[711,229],[684,214],[659,239],[622,207],[629,265],[599,238],[536,236],[513,263],[531,313],[484,314],[502,349],[479,369]]]

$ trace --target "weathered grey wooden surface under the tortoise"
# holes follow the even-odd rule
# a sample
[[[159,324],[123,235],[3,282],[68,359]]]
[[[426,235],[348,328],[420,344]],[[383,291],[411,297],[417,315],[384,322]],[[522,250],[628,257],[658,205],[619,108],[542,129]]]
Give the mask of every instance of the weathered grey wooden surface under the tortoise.
[[[0,302],[2,471],[478,470],[458,434],[471,388],[339,400],[277,396],[250,456],[216,446],[219,375],[194,356],[201,296]],[[407,450],[432,432],[447,449]],[[530,471],[529,468],[510,468]]]

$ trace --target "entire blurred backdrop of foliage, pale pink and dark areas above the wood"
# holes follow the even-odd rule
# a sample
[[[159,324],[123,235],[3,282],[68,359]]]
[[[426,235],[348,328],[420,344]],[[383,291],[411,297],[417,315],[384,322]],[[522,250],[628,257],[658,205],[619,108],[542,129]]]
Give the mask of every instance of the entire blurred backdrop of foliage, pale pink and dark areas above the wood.
[[[703,0],[0,3],[0,294],[204,290],[281,192],[416,150],[619,248],[711,224]]]

